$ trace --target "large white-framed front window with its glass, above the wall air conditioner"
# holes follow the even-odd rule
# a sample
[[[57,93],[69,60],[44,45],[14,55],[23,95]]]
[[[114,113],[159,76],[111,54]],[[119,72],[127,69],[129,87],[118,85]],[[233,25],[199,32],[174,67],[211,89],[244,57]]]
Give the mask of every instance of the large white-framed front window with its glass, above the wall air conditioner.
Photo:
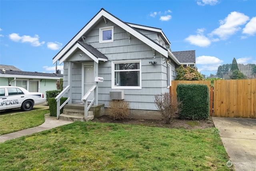
[[[141,89],[141,61],[112,62],[113,89]]]

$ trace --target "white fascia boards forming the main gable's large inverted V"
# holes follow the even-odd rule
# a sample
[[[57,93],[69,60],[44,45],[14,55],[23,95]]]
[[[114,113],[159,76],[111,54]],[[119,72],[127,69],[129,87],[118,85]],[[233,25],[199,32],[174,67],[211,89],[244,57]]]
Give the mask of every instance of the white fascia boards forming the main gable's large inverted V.
[[[136,38],[140,39],[142,42],[144,42],[145,44],[147,44],[148,46],[150,46],[151,48],[155,49],[156,51],[158,51],[160,54],[164,55],[165,57],[168,57],[168,53],[166,51],[165,48],[161,48],[160,46],[158,46],[157,44],[155,44],[154,42],[152,42],[151,40],[149,40],[148,38],[144,37],[143,35],[141,35],[140,33],[138,33],[136,30],[134,30],[133,28],[130,28],[129,26],[127,26],[126,24],[124,24],[123,22],[121,22],[120,20],[118,20],[117,18],[113,17],[112,15],[108,14],[107,12],[105,12],[104,10],[101,10],[60,52],[57,56],[54,57],[53,59],[53,64],[55,62],[57,62],[70,48],[71,46],[73,46],[73,44],[76,43],[76,41],[82,37],[102,16],[104,16],[105,18],[107,18],[108,20],[112,21],[113,23],[117,24],[118,26],[120,26],[121,28],[123,28],[124,30],[126,30],[127,32],[129,32],[130,34],[134,35]],[[64,61],[64,60],[60,60],[60,61]],[[62,63],[60,62],[60,64]]]

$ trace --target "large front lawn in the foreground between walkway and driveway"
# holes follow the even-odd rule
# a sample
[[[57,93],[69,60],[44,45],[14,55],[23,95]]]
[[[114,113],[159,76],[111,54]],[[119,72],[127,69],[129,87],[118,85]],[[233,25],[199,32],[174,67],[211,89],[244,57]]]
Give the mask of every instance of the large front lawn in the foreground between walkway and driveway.
[[[0,143],[0,170],[228,171],[213,132],[74,122]]]

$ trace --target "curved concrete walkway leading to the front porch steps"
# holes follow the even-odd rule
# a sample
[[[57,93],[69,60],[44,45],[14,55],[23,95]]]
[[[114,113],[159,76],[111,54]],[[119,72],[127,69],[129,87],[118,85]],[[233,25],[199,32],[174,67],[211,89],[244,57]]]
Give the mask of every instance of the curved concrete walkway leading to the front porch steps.
[[[22,137],[25,135],[30,135],[32,133],[36,133],[36,132],[40,132],[40,131],[44,131],[44,130],[48,130],[48,129],[52,129],[52,128],[55,128],[58,126],[72,123],[71,121],[62,121],[62,120],[57,119],[56,117],[52,117],[52,116],[50,116],[49,113],[45,114],[44,118],[45,118],[45,122],[42,125],[39,125],[37,127],[1,135],[0,143],[10,140],[10,139],[15,139],[15,138]]]

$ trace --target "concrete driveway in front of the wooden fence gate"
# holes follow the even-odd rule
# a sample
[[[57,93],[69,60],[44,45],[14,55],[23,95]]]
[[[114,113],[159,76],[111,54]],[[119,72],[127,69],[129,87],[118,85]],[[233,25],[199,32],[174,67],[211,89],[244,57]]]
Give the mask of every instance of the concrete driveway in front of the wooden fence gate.
[[[212,117],[236,171],[256,171],[256,119]]]

